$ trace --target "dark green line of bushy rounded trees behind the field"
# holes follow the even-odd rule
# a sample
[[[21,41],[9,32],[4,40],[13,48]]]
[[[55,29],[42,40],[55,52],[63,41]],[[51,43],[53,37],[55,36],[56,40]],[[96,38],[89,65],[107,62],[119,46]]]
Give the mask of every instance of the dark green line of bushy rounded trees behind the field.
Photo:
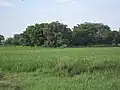
[[[70,29],[68,25],[55,21],[30,25],[13,38],[4,39],[0,35],[0,44],[43,47],[117,46],[120,43],[120,29],[113,31],[108,25],[90,22],[77,24]]]

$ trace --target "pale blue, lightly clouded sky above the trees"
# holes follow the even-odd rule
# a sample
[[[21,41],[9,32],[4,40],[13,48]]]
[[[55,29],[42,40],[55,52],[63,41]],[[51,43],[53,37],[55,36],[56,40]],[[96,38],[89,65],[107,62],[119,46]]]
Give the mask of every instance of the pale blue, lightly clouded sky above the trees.
[[[28,25],[60,21],[72,28],[84,22],[120,27],[120,0],[0,0],[0,34],[21,33]]]

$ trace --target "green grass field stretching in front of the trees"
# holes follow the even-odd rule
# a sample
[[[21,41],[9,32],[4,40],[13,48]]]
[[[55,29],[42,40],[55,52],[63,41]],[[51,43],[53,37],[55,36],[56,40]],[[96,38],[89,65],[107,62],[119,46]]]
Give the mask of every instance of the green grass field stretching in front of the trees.
[[[0,90],[120,90],[120,48],[0,47]]]

